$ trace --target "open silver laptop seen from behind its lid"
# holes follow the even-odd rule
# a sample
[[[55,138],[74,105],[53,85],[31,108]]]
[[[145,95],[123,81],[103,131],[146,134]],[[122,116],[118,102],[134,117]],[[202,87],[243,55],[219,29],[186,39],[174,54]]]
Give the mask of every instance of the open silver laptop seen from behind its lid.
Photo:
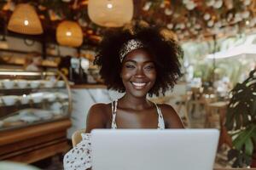
[[[92,170],[212,170],[218,129],[95,129]]]

